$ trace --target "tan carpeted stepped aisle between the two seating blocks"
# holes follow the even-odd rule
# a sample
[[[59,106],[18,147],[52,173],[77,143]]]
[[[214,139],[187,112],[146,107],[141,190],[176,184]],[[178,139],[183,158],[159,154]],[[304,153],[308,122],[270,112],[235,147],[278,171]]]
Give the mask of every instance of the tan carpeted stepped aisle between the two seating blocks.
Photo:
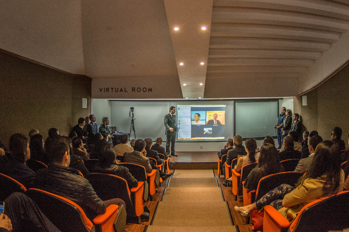
[[[147,232],[235,232],[213,170],[175,170]]]

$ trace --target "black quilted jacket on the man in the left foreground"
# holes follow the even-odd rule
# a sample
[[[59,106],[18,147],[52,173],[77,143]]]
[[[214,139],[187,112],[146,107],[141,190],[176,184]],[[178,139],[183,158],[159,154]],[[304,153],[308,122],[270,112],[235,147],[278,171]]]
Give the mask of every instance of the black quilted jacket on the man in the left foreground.
[[[90,220],[105,213],[104,202],[97,196],[88,180],[74,168],[51,163],[48,168],[37,171],[33,186],[74,201]]]

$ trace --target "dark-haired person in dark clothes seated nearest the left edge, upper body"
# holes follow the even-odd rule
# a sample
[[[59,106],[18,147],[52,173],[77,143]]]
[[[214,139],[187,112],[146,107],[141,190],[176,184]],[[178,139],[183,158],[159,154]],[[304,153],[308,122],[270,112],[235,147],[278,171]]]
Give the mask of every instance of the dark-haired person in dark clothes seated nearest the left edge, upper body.
[[[30,149],[27,137],[14,134],[9,141],[10,157],[0,157],[0,173],[14,178],[26,188],[31,187],[35,178],[35,171],[31,170],[25,162],[30,159]]]

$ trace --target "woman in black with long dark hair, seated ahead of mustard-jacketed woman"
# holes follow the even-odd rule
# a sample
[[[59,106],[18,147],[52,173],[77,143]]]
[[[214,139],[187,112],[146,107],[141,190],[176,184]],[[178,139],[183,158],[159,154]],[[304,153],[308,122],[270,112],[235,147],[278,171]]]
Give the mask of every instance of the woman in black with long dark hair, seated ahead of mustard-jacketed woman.
[[[258,164],[245,179],[244,187],[247,189],[247,192],[257,190],[261,178],[282,171],[284,169],[280,163],[275,145],[265,143],[261,147]]]

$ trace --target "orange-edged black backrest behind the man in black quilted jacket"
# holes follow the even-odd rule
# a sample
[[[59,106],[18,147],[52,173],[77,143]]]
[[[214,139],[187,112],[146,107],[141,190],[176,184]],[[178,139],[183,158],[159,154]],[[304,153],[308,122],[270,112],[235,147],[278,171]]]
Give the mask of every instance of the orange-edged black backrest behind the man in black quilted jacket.
[[[62,232],[90,232],[93,224],[75,202],[40,189],[25,194],[38,205],[45,216]]]

